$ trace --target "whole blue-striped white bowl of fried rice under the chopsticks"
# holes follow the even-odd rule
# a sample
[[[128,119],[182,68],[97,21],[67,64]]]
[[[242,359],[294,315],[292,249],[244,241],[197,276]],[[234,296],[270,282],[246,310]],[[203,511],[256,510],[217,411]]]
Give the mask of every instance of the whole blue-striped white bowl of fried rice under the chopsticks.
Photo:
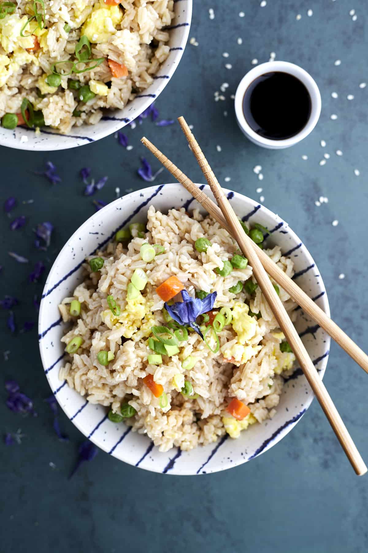
[[[244,232],[329,314],[287,223],[226,193]],[[322,378],[329,337],[273,284]],[[110,455],[155,472],[252,460],[313,399],[248,260],[179,184],[132,192],[78,228],[47,277],[39,341],[68,418]]]

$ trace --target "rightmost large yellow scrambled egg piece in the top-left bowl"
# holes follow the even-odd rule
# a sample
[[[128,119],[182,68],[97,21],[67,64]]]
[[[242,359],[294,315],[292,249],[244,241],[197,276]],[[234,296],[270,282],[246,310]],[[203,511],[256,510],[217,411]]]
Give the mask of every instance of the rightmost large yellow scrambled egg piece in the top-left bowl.
[[[104,0],[95,4],[92,13],[82,27],[82,35],[86,35],[90,43],[107,42],[116,31],[116,25],[122,20],[119,6],[107,6]]]

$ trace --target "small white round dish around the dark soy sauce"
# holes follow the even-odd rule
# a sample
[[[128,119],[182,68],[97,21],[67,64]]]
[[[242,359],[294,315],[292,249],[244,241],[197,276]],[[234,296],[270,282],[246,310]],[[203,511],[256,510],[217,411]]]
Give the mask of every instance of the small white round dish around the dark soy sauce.
[[[271,140],[257,134],[249,126],[247,119],[244,117],[243,111],[243,98],[248,86],[255,79],[258,79],[258,77],[260,77],[261,75],[264,75],[265,73],[272,73],[275,71],[288,73],[289,75],[292,75],[299,79],[307,88],[307,91],[309,92],[311,97],[312,109],[310,118],[308,119],[305,127],[303,127],[302,130],[294,137],[286,138],[285,140]],[[314,127],[316,127],[316,124],[318,123],[319,115],[321,114],[321,105],[321,93],[319,92],[316,81],[314,81],[313,77],[311,77],[311,75],[307,73],[305,69],[302,69],[302,67],[299,67],[298,65],[291,64],[288,61],[268,61],[265,64],[257,65],[257,67],[254,67],[253,69],[248,71],[247,75],[245,75],[243,79],[239,82],[237,91],[235,93],[234,102],[236,119],[242,133],[245,134],[246,137],[249,138],[249,140],[254,144],[257,144],[262,148],[268,148],[270,150],[281,150],[283,148],[290,148],[290,146],[294,146],[294,144],[297,144],[298,142],[303,140],[303,138],[306,138],[308,134],[313,131]]]

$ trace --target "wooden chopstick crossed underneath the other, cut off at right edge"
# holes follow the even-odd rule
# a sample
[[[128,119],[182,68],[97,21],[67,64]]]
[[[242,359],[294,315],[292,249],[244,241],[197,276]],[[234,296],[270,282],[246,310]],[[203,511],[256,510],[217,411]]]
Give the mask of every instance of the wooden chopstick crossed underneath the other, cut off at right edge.
[[[186,176],[183,171],[180,171],[176,165],[170,161],[166,155],[164,155],[160,150],[154,146],[150,140],[143,137],[141,142],[152,152],[156,158],[161,161],[162,165],[170,171],[170,173],[177,179],[185,188],[190,192],[190,194],[201,204],[207,212],[210,213],[214,219],[220,223],[220,225],[226,229],[226,231],[232,234],[230,227],[228,226],[225,218],[223,217],[220,208],[214,204],[214,202],[202,192],[198,186],[192,182],[188,176]],[[318,323],[326,332],[333,338],[335,342],[342,347],[348,355],[358,365],[368,373],[368,356],[356,345],[348,335],[332,320],[326,315],[326,313],[314,303],[314,301],[307,296],[305,292],[291,280],[290,276],[287,276],[284,271],[282,271],[272,259],[268,257],[266,253],[260,249],[257,244],[252,242],[252,247],[257,253],[259,259],[262,262],[263,267],[266,272],[284,289],[290,297],[296,301],[302,309],[312,317],[314,321]]]

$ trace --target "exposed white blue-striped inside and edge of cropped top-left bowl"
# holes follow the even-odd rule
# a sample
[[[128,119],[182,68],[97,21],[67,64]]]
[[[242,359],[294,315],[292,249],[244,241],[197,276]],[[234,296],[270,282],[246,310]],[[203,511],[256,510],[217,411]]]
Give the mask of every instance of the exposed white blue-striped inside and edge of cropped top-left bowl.
[[[34,129],[25,126],[17,127],[14,131],[0,127],[0,145],[20,150],[65,150],[95,142],[125,127],[156,100],[177,69],[188,40],[192,1],[174,0],[175,17],[169,27],[169,56],[159,68],[152,85],[127,103],[124,109],[106,109],[97,124],[73,127],[70,134],[60,134],[52,128],[42,128],[40,134],[36,135]]]

